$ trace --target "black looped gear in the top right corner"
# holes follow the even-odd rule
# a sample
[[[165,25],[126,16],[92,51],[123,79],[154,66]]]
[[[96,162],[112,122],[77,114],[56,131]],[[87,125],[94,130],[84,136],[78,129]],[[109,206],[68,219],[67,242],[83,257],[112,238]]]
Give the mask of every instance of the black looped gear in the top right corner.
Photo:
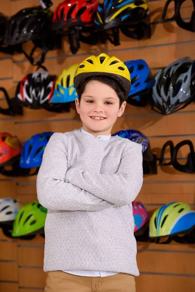
[[[175,2],[175,14],[172,18],[165,18],[166,13],[167,13],[167,8],[172,1]],[[181,28],[188,30],[188,31],[191,31],[191,32],[195,32],[195,0],[192,0],[193,6],[194,6],[194,11],[192,12],[191,20],[189,22],[185,22],[181,18],[180,7],[183,4],[183,2],[185,2],[185,0],[168,0],[165,4],[165,7],[164,7],[164,11],[162,14],[162,20],[163,21],[176,20],[177,25],[180,26]]]

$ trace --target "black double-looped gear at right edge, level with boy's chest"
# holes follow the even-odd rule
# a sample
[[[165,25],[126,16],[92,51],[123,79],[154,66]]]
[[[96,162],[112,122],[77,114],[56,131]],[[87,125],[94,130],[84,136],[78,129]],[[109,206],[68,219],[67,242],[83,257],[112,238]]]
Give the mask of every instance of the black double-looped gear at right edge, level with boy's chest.
[[[179,164],[178,160],[177,160],[177,153],[178,153],[178,150],[184,145],[188,145],[190,147],[190,153],[188,154],[186,164]],[[170,147],[171,161],[168,163],[163,163],[164,152],[165,152],[167,146]],[[195,150],[194,150],[194,146],[192,144],[192,141],[190,141],[190,140],[181,141],[175,147],[174,147],[174,144],[171,140],[167,141],[164,144],[164,146],[162,147],[160,159],[159,159],[159,165],[161,165],[161,166],[162,165],[173,165],[176,170],[181,171],[181,172],[187,172],[187,173],[195,172]]]

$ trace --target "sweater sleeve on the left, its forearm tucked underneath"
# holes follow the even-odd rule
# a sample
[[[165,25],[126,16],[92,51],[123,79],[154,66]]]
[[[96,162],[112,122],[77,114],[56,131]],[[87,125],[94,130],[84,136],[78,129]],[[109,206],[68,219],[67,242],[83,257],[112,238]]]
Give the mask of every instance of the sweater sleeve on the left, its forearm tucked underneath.
[[[62,133],[54,133],[45,147],[37,177],[37,195],[41,205],[51,210],[99,211],[114,204],[65,182],[67,142]]]

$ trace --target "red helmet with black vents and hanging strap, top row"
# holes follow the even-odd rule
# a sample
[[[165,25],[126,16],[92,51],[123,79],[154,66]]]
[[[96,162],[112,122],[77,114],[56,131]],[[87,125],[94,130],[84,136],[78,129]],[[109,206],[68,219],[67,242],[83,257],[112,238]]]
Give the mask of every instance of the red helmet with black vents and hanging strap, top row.
[[[98,0],[64,0],[56,8],[53,15],[53,29],[66,29],[70,42],[70,49],[76,54],[80,45],[80,32],[91,32],[90,27],[94,25],[94,16],[98,7]],[[73,35],[75,34],[75,39]],[[91,37],[93,35],[91,34]],[[84,37],[83,37],[84,39]],[[82,39],[82,41],[83,41]],[[89,41],[90,38],[86,38]]]

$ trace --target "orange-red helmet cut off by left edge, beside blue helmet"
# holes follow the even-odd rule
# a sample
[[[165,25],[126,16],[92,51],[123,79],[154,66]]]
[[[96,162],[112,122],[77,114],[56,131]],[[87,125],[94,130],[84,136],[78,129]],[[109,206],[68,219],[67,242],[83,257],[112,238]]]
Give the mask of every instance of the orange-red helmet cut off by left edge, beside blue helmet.
[[[18,137],[10,133],[0,133],[0,167],[12,165],[19,160],[22,144]]]

